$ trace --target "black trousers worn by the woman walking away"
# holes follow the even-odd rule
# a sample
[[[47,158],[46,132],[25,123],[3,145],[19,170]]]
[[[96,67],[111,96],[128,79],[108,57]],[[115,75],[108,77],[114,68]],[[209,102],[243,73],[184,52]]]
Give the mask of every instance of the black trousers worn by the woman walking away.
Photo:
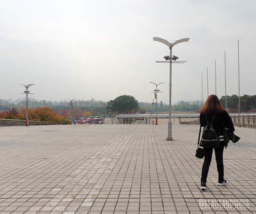
[[[220,147],[218,149],[214,149],[216,162],[217,162],[217,169],[219,172],[219,182],[224,180],[223,149],[224,149],[224,142],[221,142]],[[212,160],[212,150],[213,149],[204,148],[204,164],[203,164],[202,177],[201,177],[202,183],[206,183],[207,174],[208,174],[209,167]]]

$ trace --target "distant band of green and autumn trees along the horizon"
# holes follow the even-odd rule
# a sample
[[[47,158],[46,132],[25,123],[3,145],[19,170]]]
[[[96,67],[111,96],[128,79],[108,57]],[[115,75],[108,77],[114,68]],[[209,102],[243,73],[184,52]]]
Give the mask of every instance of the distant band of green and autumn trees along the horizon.
[[[256,95],[243,95],[240,96],[241,101],[241,112],[256,112]],[[220,98],[221,105],[225,108],[225,96]],[[95,100],[74,100],[72,117],[86,118],[92,116],[111,116],[114,112],[116,114],[127,114],[140,112],[141,114],[145,112],[156,112],[156,103],[138,102],[133,96],[122,95],[115,98],[115,100],[110,100],[108,102],[95,101]],[[30,101],[29,109],[36,109],[42,107],[49,107],[52,111],[56,112],[56,116],[65,116],[70,118],[70,102],[47,102],[46,100],[41,101]],[[182,112],[199,112],[202,109],[202,100],[196,101],[180,101],[172,105],[172,111],[182,111]],[[238,112],[239,100],[237,95],[227,96],[227,111],[228,112]],[[17,112],[22,112],[22,109],[26,108],[26,102],[22,101],[15,104],[9,104],[4,100],[0,100],[0,112],[2,113],[2,118],[8,118],[8,115],[12,115],[13,109]],[[90,109],[93,109],[90,110]],[[11,111],[10,113],[7,113]],[[168,112],[169,105],[163,103],[162,101],[157,103],[157,112]],[[4,116],[3,116],[3,112]],[[19,115],[19,116],[20,116]],[[12,117],[12,116],[11,116]],[[17,118],[17,117],[16,117]],[[18,117],[19,118],[19,117]]]

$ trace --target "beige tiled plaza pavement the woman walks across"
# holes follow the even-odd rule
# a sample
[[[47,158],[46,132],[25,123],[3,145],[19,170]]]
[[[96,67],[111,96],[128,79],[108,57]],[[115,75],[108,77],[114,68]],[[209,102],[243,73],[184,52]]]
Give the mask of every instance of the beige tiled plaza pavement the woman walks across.
[[[195,157],[199,126],[0,127],[0,213],[256,213],[256,130],[213,155],[207,190]]]

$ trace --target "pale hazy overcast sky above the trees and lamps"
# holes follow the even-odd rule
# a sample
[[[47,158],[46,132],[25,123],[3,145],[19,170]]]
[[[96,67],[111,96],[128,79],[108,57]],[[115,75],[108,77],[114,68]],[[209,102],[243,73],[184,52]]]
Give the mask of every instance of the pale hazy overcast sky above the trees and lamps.
[[[0,1],[0,96],[22,98],[21,84],[31,86],[36,100],[108,101],[120,95],[169,102],[170,50],[153,37],[190,38],[173,47],[185,64],[172,66],[172,103],[201,100],[215,93],[256,95],[255,0],[84,0]]]

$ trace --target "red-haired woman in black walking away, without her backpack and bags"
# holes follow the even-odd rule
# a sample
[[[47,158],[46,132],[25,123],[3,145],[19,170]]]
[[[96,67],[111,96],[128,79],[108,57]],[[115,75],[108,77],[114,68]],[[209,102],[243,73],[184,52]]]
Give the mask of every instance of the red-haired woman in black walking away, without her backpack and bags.
[[[214,120],[212,121],[213,118]],[[204,127],[205,125],[207,125],[207,119],[208,121],[212,121],[212,125],[214,126],[216,133],[218,134],[220,139],[220,146],[218,148],[215,148],[214,151],[215,151],[215,157],[217,162],[217,169],[219,173],[218,185],[222,186],[227,183],[227,181],[224,179],[223,149],[224,147],[227,148],[227,143],[228,143],[228,141],[224,141],[223,126],[225,126],[228,132],[234,132],[235,129],[230,116],[228,115],[227,111],[223,109],[223,107],[221,106],[220,100],[216,95],[210,95],[207,98],[207,101],[204,107],[200,111],[200,126]],[[207,180],[209,167],[211,164],[212,150],[213,149],[204,148],[205,159],[202,167],[202,177],[201,177],[202,190],[205,190],[207,188],[206,180]]]

